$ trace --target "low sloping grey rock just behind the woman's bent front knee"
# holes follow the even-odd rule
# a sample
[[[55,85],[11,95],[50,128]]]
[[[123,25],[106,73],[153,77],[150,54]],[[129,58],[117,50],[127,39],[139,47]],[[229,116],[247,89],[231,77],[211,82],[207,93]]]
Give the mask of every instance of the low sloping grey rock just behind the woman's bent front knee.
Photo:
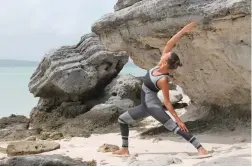
[[[115,129],[111,126],[117,125],[120,114],[134,106],[129,99],[121,99],[119,103],[99,104],[90,111],[82,114],[64,124],[59,131],[64,135],[89,137],[92,133],[111,133]]]

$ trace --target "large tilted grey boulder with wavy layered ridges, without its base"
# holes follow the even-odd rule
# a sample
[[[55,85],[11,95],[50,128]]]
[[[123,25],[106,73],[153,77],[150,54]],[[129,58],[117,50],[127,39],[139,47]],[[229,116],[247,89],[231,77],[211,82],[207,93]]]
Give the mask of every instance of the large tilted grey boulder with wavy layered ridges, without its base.
[[[126,52],[109,52],[95,34],[87,34],[77,45],[46,54],[31,77],[29,90],[44,98],[90,96],[110,83],[127,60]]]

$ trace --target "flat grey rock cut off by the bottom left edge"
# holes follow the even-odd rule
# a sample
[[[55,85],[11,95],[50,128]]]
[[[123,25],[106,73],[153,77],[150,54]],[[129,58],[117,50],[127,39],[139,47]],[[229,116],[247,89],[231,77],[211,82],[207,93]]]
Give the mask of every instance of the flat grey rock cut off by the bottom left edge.
[[[0,166],[96,166],[90,162],[74,160],[62,155],[26,155],[8,157],[0,161]]]

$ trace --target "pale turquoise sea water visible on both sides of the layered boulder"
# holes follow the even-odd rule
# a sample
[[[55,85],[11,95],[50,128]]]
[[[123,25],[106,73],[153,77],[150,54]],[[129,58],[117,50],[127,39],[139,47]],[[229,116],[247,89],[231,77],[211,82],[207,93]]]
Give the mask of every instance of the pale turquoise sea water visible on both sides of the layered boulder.
[[[10,114],[28,116],[38,98],[29,92],[28,83],[36,67],[0,67],[0,117]],[[127,64],[121,74],[142,76],[145,70]]]

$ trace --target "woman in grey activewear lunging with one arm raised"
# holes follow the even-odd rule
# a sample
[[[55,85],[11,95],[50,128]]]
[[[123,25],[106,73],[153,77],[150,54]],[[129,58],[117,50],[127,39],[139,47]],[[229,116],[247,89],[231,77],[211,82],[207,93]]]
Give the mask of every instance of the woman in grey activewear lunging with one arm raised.
[[[171,52],[171,49],[184,33],[190,32],[192,30],[194,25],[195,22],[191,22],[190,24],[186,25],[167,42],[158,65],[149,70],[144,77],[144,83],[142,85],[141,91],[141,104],[119,116],[118,122],[120,124],[122,135],[122,148],[113,152],[114,155],[129,155],[128,125],[132,124],[136,120],[143,119],[148,116],[154,117],[169,131],[173,131],[175,134],[182,136],[185,140],[190,142],[198,150],[198,155],[208,154],[208,151],[199,143],[199,141],[188,132],[187,127],[178,117],[169,99],[167,73],[169,70],[174,70],[179,66],[182,66],[178,55]],[[163,104],[157,96],[159,90],[162,90],[164,95],[164,105],[175,118],[176,123],[170,118],[170,116],[166,113],[166,110],[163,108]]]

